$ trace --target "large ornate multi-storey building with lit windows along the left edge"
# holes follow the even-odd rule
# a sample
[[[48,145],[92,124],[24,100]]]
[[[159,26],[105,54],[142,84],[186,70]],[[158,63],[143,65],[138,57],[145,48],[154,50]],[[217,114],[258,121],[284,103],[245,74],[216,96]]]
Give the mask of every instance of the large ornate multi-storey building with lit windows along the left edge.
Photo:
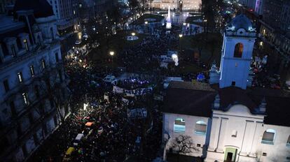
[[[28,159],[69,113],[55,15],[30,2],[0,17],[0,161]]]

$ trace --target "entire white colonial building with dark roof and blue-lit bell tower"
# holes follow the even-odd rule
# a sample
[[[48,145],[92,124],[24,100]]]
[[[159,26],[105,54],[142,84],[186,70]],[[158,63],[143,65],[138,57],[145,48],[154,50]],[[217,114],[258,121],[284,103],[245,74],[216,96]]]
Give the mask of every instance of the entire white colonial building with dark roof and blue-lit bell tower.
[[[256,31],[238,15],[223,34],[221,67],[211,84],[170,82],[163,106],[165,159],[175,138],[209,162],[290,161],[290,93],[247,87]]]

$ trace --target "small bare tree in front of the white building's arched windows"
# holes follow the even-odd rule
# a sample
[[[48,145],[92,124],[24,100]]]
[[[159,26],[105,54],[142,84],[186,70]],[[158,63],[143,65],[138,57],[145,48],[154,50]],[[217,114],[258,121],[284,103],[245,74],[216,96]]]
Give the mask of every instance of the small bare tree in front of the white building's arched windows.
[[[189,154],[197,151],[198,148],[194,147],[193,140],[188,135],[179,135],[172,142],[171,148],[174,149],[178,154]]]

